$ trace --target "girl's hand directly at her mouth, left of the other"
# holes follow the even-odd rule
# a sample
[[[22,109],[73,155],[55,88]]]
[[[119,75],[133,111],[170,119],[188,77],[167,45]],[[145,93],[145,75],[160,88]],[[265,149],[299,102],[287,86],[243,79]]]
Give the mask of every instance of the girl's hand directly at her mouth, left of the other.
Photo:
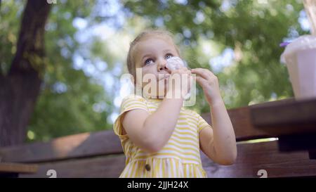
[[[191,71],[187,68],[172,70],[169,77],[167,98],[184,98],[190,93],[191,79]]]

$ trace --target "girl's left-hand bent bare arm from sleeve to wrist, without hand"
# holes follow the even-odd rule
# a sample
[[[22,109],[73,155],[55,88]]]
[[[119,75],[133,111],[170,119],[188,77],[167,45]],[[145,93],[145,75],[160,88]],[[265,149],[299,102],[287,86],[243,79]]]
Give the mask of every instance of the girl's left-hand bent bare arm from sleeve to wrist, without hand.
[[[182,98],[165,98],[150,115],[145,110],[131,110],[122,122],[126,133],[136,146],[154,153],[169,140],[183,105]]]

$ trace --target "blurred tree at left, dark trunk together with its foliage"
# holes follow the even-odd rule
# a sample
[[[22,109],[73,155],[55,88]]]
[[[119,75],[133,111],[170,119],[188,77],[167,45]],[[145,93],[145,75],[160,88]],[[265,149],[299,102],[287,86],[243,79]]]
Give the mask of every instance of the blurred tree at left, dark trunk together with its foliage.
[[[52,5],[36,0],[2,2],[1,146],[22,143],[27,133],[29,141],[46,141],[57,136],[110,127],[106,120],[107,115],[111,113],[111,96],[105,94],[103,86],[91,75],[86,75],[82,69],[74,68],[73,61],[75,52],[87,52],[94,41],[91,40],[90,44],[80,44],[75,38],[77,28],[72,24],[75,19],[91,17],[91,11],[97,3],[105,4],[103,1],[90,0],[57,1],[57,4]],[[45,7],[49,8],[45,12],[46,16],[39,15],[46,11]],[[50,9],[51,13],[46,22]],[[96,25],[98,20],[98,14],[93,15],[87,27]],[[22,27],[20,38],[17,38],[19,25]],[[40,35],[40,38],[36,38],[36,35]],[[81,50],[82,47],[85,49]],[[86,52],[82,53],[85,56],[83,62],[91,63],[91,53]],[[25,57],[22,58],[21,55]],[[24,60],[19,61],[17,58]]]

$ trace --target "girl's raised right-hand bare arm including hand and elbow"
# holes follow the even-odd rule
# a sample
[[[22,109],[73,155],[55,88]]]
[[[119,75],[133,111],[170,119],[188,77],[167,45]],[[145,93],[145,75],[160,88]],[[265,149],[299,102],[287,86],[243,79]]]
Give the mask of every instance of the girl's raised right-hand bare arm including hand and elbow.
[[[199,141],[202,151],[214,162],[231,165],[237,158],[237,146],[232,122],[220,96],[218,79],[209,70],[197,68],[197,82],[201,85],[211,110],[213,129],[202,129]]]

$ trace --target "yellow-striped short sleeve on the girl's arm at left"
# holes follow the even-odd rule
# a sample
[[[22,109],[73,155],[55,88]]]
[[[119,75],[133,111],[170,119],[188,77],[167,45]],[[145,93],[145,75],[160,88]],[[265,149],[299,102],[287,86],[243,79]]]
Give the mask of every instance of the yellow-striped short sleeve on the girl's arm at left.
[[[117,119],[115,120],[113,124],[114,133],[117,134],[117,136],[119,136],[120,139],[124,139],[125,137],[127,137],[127,134],[125,135],[121,134],[122,120],[123,120],[124,114],[134,109],[142,109],[149,112],[144,98],[140,96],[135,96],[135,95],[127,96],[126,98],[124,98],[123,101],[121,102],[119,116],[117,117]]]

